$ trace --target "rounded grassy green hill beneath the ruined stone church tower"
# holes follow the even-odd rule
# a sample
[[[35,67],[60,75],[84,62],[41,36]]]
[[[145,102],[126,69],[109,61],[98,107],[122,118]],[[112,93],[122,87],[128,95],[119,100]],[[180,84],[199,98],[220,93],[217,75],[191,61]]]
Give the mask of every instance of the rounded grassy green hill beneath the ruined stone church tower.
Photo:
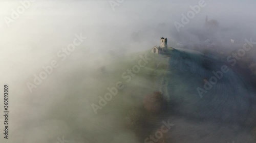
[[[127,70],[133,71],[134,67],[138,67],[139,61],[143,61],[141,56],[145,58],[145,55],[151,59],[145,67],[140,67],[133,75],[128,74]],[[219,134],[229,134],[228,139],[232,139],[237,133],[245,134],[245,130],[251,132],[251,127],[255,126],[255,122],[251,120],[256,117],[252,110],[256,108],[253,103],[256,101],[255,96],[248,88],[250,85],[232,69],[223,73],[223,77],[210,90],[199,96],[197,88],[204,89],[204,80],[209,81],[215,76],[212,72],[221,70],[225,65],[221,61],[208,58],[200,52],[174,48],[169,48],[164,54],[154,54],[147,50],[105,58],[107,64],[94,73],[97,79],[94,84],[101,90],[91,91],[94,97],[91,102],[97,103],[98,96],[104,97],[109,92],[107,88],[122,82],[123,88],[118,90],[117,95],[102,109],[97,110],[96,117],[111,117],[113,123],[110,125],[117,125],[116,128],[110,127],[112,132],[120,129],[135,132],[141,142],[154,133],[163,120],[172,118],[172,122],[180,128],[167,135],[168,141],[185,142],[189,140],[186,135],[191,132],[203,135],[205,128],[209,128],[207,132],[211,134],[195,140],[204,142],[215,138],[214,141],[225,142],[227,138],[221,138]],[[151,99],[156,91],[167,101],[167,110],[152,112],[145,108],[145,99]],[[158,105],[157,99],[151,100],[152,105]],[[99,126],[105,123],[100,120],[98,122]],[[198,124],[199,122],[202,124]],[[183,125],[191,128],[187,130],[182,128]],[[225,130],[220,131],[215,128],[217,126]],[[233,126],[238,128],[234,129]],[[232,130],[237,133],[230,133]],[[250,137],[246,141],[253,142]]]

